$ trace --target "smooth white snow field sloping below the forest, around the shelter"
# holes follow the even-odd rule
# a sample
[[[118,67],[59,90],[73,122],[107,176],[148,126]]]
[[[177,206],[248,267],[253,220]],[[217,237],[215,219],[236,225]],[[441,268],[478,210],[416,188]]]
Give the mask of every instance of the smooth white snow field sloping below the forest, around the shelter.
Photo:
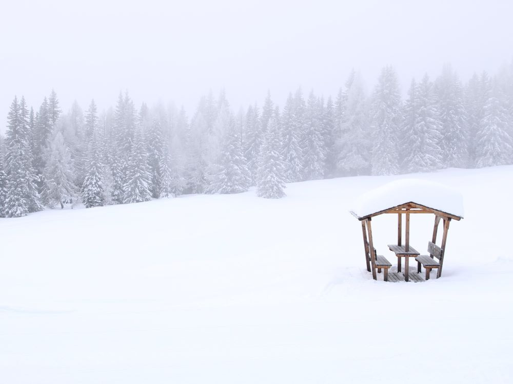
[[[513,166],[404,177],[463,193],[441,279],[366,271],[348,209],[402,176],[0,220],[0,382],[512,382]],[[392,263],[396,231],[373,221]]]

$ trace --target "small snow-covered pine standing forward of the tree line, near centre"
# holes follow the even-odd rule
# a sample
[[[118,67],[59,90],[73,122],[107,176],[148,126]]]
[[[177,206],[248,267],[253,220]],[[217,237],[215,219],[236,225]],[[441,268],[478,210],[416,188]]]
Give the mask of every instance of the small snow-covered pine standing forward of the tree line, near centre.
[[[279,199],[285,195],[282,143],[279,137],[278,120],[272,116],[267,126],[264,143],[260,151],[257,173],[257,196],[266,199]]]

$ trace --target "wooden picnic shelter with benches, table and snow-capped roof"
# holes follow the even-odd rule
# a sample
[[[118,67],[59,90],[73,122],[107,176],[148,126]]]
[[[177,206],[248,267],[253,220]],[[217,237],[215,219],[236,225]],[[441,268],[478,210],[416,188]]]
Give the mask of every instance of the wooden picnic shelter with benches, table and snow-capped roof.
[[[432,269],[437,269],[437,279],[442,275],[443,261],[447,242],[449,224],[452,220],[463,218],[463,201],[458,191],[445,185],[418,179],[402,179],[390,182],[362,195],[350,210],[362,225],[365,262],[372,278],[377,280],[377,273],[383,270],[384,281],[399,281],[404,259],[404,281],[410,278],[422,281],[419,273],[423,266],[426,270],[425,280],[429,279]],[[397,244],[389,244],[388,248],[397,257],[397,272],[389,275],[392,264],[383,256],[378,255],[372,238],[372,218],[383,215],[397,215]],[[410,245],[410,215],[432,214],[435,223],[431,241],[428,242],[429,254],[421,255]],[[404,226],[403,226],[404,215]],[[436,245],[439,224],[443,222],[441,245]],[[403,229],[404,227],[404,229]],[[403,243],[404,231],[404,243]],[[371,251],[372,250],[372,251]],[[409,272],[409,259],[417,261],[417,274]],[[437,261],[438,259],[438,261]]]

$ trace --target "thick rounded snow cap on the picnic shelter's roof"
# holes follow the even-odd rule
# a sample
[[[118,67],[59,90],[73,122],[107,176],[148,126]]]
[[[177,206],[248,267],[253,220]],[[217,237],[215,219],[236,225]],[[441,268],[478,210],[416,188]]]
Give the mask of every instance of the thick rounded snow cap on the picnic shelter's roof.
[[[463,197],[457,190],[421,179],[396,180],[369,190],[354,202],[350,212],[361,219],[406,203],[463,218]]]

